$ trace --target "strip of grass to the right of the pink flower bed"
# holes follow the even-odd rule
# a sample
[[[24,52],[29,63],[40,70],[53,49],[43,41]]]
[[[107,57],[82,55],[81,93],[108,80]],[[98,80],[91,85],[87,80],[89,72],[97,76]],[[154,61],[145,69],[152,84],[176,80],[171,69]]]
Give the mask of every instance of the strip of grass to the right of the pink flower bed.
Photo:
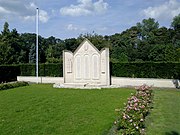
[[[180,90],[156,90],[147,135],[180,135]]]

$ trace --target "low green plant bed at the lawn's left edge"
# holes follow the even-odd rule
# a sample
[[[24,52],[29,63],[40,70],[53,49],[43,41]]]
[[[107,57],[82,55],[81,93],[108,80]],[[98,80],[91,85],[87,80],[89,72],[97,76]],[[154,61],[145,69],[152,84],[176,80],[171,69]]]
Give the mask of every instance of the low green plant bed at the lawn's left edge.
[[[0,90],[7,90],[11,88],[17,88],[22,86],[28,86],[27,82],[10,82],[10,83],[2,83],[0,84]]]

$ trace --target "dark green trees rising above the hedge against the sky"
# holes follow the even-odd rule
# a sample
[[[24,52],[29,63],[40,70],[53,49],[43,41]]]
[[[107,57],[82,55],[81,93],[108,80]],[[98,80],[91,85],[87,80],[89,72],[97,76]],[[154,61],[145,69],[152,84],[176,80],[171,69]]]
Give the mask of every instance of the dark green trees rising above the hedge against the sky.
[[[179,62],[180,14],[173,18],[171,28],[159,27],[155,19],[148,18],[109,36],[87,33],[65,40],[39,36],[39,62],[61,62],[62,51],[75,51],[84,38],[99,50],[109,47],[111,62]],[[5,22],[0,33],[0,64],[35,63],[35,40],[34,33],[20,34],[16,29],[10,30],[8,22]]]

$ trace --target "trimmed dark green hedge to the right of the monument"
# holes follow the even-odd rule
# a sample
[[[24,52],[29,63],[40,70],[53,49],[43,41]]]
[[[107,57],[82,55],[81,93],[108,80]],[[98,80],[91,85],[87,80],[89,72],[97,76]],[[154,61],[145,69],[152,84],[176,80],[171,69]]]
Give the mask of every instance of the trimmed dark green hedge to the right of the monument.
[[[116,77],[180,79],[180,63],[111,63]]]

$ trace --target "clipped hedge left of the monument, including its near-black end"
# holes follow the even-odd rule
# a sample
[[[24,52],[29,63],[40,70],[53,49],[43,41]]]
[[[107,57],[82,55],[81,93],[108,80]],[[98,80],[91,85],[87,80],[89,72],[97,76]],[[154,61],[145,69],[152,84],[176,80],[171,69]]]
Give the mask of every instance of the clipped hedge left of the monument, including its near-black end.
[[[0,83],[17,81],[17,76],[36,76],[36,65],[0,65]],[[39,76],[62,77],[62,63],[39,64]]]

